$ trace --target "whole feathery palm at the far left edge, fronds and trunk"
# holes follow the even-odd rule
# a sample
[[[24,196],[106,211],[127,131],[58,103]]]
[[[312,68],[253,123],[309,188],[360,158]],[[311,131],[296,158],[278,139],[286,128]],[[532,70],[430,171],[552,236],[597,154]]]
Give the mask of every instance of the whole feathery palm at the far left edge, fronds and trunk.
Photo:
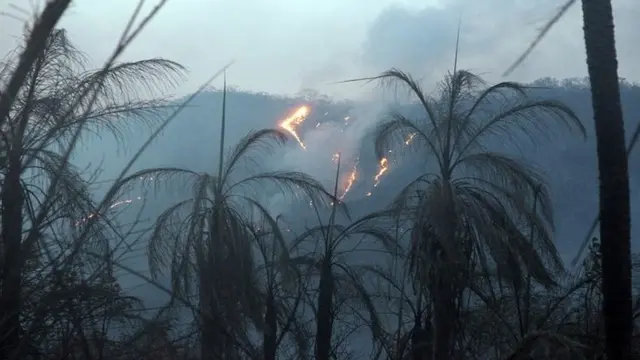
[[[3,74],[19,72],[21,64],[9,61]],[[75,145],[73,134],[105,128],[117,135],[130,121],[158,118],[165,101],[140,99],[140,89],[170,85],[181,71],[163,59],[89,71],[64,30],[46,39],[1,123],[2,351],[13,352],[20,341],[25,264],[47,246],[42,235],[53,222],[62,219],[69,229],[94,209],[88,183],[66,154]],[[54,185],[55,191],[45,190]]]

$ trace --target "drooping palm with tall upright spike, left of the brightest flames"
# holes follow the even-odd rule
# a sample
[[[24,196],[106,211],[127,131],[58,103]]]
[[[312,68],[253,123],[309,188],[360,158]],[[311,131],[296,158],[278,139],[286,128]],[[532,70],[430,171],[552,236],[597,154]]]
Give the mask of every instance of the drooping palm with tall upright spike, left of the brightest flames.
[[[199,310],[195,317],[201,321],[202,359],[237,358],[239,349],[247,351],[250,347],[247,318],[253,323],[262,321],[251,318],[256,307],[251,297],[255,293],[251,288],[255,269],[251,215],[256,211],[265,218],[270,215],[253,196],[256,188],[284,195],[303,193],[320,203],[333,199],[322,184],[300,172],[258,171],[243,176],[245,164],[252,170],[260,169],[256,153],[269,152],[274,144],[284,145],[288,137],[275,129],[252,131],[225,152],[225,126],[226,80],[215,175],[182,168],[154,168],[134,173],[119,185],[150,176],[177,176],[193,189],[193,196],[170,206],[158,217],[149,244],[149,264],[154,276],[169,268],[176,296],[197,296],[195,308]],[[223,273],[225,276],[220,276]]]

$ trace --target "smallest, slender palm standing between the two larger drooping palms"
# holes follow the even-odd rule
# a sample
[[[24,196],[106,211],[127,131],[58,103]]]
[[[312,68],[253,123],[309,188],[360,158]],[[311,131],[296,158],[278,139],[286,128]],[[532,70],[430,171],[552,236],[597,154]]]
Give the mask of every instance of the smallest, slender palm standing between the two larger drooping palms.
[[[333,197],[337,198],[340,179],[340,158],[333,189]],[[328,221],[321,215],[321,209],[312,203],[318,225],[308,228],[294,240],[294,246],[300,253],[290,261],[306,269],[317,278],[317,295],[310,301],[314,312],[315,359],[329,360],[335,357],[334,326],[340,299],[355,301],[364,307],[364,315],[369,317],[368,327],[372,330],[374,341],[380,339],[380,319],[374,301],[362,282],[367,273],[366,266],[351,265],[346,261],[349,253],[362,251],[358,245],[366,240],[381,241],[387,248],[393,248],[395,239],[380,222],[387,217],[387,212],[373,212],[360,219],[344,225],[339,221],[340,215],[350,220],[346,205],[339,200],[332,202]],[[305,254],[301,246],[310,242],[311,254]],[[317,303],[314,305],[313,303]]]

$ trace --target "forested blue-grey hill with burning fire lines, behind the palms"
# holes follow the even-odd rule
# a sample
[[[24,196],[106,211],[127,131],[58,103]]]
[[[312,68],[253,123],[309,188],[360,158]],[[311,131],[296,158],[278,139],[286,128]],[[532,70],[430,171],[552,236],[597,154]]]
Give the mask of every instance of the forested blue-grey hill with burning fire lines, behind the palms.
[[[537,145],[523,144],[520,156],[532,161],[546,173],[553,193],[557,243],[565,259],[570,259],[584,239],[597,212],[597,162],[591,97],[584,80],[557,81],[541,79],[534,84],[533,96],[560,100],[570,106],[581,118],[588,131],[587,139],[578,134],[571,135],[558,129],[557,136],[540,139]],[[171,165],[187,167],[196,171],[216,169],[219,147],[220,114],[222,97],[219,91],[199,95],[155,141],[153,146],[137,162],[136,168]],[[375,123],[384,115],[385,107],[379,104],[332,102],[314,97],[283,98],[268,94],[231,91],[227,95],[227,130],[225,143],[232,146],[251,129],[277,126],[279,120],[300,105],[308,105],[310,114],[298,128],[307,150],[292,141],[286,151],[265,155],[260,163],[266,167],[287,168],[308,172],[325,185],[331,186],[335,177],[332,155],[342,151],[341,187],[346,186],[346,176],[354,166],[357,178],[345,201],[354,213],[364,213],[384,206],[416,175],[415,165],[411,170],[395,169],[390,164],[388,172],[374,188],[374,176],[380,170],[373,156],[373,143],[369,135]],[[627,136],[635,130],[640,118],[640,87],[630,84],[622,86]],[[133,139],[128,147],[135,150],[144,136]],[[109,139],[101,140],[103,149],[109,149]],[[499,144],[497,144],[499,148]],[[93,147],[93,146],[92,146]],[[93,147],[95,148],[95,147]],[[109,153],[107,150],[105,154]],[[86,156],[86,157],[85,157]],[[411,154],[407,154],[411,156]],[[640,155],[639,155],[640,156]],[[78,161],[93,158],[95,154],[79,153]],[[103,175],[113,176],[125,162],[126,156],[108,156],[103,163]],[[631,156],[632,204],[640,204],[638,179],[640,168],[634,166],[640,158]],[[404,161],[403,161],[404,162]],[[248,169],[250,171],[250,169]],[[371,192],[370,196],[369,192]],[[279,204],[283,206],[283,204]],[[633,216],[638,214],[633,206]],[[281,211],[286,212],[285,208]],[[311,213],[310,213],[311,215]],[[304,217],[296,211],[296,217]],[[634,228],[633,238],[640,230]],[[638,248],[638,241],[635,241]]]

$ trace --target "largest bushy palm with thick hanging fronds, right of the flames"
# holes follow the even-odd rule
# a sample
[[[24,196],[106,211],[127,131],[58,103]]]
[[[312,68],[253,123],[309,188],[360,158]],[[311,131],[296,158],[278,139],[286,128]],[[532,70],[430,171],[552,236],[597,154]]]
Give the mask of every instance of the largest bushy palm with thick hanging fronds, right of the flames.
[[[512,82],[485,87],[467,71],[450,74],[435,98],[399,70],[377,79],[407,86],[424,111],[416,119],[392,112],[377,129],[375,148],[382,158],[412,136],[411,146],[434,160],[435,170],[425,170],[404,188],[394,207],[405,209],[415,224],[410,265],[433,297],[434,359],[450,359],[456,298],[474,268],[487,273],[494,268],[503,279],[527,273],[551,285],[548,269],[562,267],[543,177],[523,161],[490,150],[492,142],[521,141],[533,131],[551,129],[550,121],[582,133],[584,128],[558,102],[530,99],[526,88]],[[532,228],[535,236],[529,239]]]

